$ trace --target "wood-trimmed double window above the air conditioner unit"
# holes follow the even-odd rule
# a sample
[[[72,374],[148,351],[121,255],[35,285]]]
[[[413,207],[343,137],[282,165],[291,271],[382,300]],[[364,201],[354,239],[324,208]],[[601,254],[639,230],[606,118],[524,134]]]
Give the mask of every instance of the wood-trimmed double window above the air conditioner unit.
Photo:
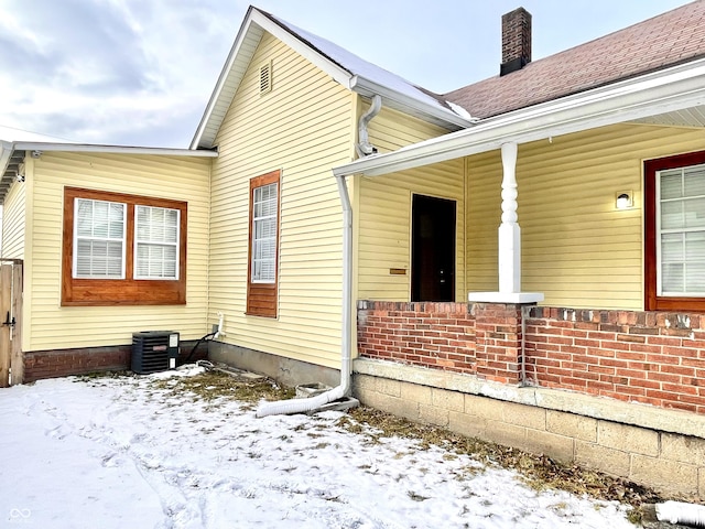
[[[62,305],[186,303],[185,202],[64,190]]]

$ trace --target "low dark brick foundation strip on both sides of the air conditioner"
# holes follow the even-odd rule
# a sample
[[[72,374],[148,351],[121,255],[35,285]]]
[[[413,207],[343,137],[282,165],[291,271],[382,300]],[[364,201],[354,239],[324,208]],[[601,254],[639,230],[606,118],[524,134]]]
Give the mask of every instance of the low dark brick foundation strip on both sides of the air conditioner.
[[[195,344],[195,341],[184,341],[180,344],[177,364],[185,361]],[[131,345],[32,350],[24,354],[23,382],[96,371],[127,370],[130,369],[131,356]],[[189,361],[194,363],[207,357],[208,344],[202,343]]]

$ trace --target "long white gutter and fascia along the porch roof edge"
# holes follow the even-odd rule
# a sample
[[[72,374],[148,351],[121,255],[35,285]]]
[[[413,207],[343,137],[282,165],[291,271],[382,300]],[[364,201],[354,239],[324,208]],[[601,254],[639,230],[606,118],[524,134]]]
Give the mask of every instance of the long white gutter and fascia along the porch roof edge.
[[[386,154],[333,169],[335,176],[379,176],[499,149],[705,104],[705,60],[647,74],[488,118]]]

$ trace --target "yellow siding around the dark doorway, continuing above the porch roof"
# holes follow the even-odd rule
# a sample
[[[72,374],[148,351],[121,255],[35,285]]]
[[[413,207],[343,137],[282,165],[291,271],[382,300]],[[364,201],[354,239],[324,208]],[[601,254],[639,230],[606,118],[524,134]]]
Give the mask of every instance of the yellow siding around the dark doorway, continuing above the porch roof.
[[[367,105],[362,110],[366,109]],[[387,108],[369,125],[370,142],[380,153],[436,138],[444,132],[447,131]],[[465,299],[463,161],[453,160],[372,179],[359,179],[357,296],[365,300],[410,300],[411,201],[412,194],[422,194],[457,201],[456,300]],[[406,274],[390,274],[391,268],[403,268]]]

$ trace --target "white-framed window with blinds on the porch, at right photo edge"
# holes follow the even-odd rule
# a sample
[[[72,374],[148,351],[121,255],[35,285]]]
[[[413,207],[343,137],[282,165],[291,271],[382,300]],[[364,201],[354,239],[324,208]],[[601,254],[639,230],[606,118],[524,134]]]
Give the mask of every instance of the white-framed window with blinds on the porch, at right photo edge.
[[[705,164],[657,171],[657,294],[705,298]]]

